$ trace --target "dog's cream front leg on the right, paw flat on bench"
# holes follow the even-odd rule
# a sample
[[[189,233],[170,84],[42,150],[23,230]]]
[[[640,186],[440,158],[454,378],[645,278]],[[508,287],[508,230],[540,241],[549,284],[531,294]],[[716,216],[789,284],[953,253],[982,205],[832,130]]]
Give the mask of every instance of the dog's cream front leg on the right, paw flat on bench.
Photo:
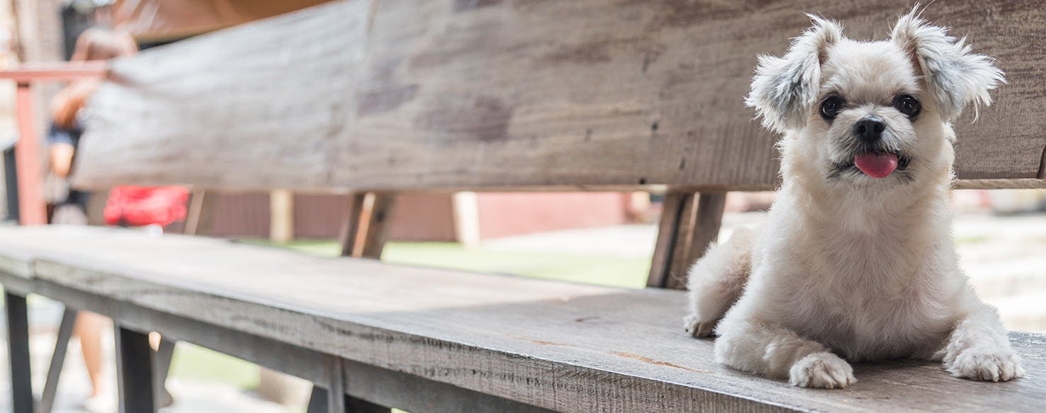
[[[980,301],[955,326],[941,352],[945,369],[956,377],[1006,382],[1024,375],[999,315]]]

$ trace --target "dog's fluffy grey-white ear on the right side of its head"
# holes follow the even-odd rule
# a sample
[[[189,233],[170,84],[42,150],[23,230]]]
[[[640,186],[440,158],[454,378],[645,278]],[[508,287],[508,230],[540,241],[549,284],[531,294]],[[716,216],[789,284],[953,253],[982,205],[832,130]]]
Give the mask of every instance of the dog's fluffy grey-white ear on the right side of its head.
[[[927,23],[917,5],[897,20],[890,40],[912,58],[945,121],[958,117],[967,105],[975,111],[992,105],[988,91],[1006,83],[992,58],[974,53],[965,38],[953,38],[947,28]]]

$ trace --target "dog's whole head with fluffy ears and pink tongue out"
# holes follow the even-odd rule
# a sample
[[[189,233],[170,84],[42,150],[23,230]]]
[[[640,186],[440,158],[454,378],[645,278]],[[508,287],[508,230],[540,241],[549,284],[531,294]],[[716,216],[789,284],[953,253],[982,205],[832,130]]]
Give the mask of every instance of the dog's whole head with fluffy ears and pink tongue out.
[[[993,60],[915,9],[879,42],[810,18],[782,58],[759,58],[746,99],[765,127],[786,134],[786,170],[791,163],[823,182],[862,185],[950,174],[950,121],[991,105],[988,91],[1005,82]]]

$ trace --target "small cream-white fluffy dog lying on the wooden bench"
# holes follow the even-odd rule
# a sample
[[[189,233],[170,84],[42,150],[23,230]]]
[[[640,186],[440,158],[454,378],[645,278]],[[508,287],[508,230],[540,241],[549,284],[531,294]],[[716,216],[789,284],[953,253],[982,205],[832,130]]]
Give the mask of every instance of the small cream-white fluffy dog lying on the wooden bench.
[[[783,134],[783,184],[758,233],[690,269],[686,328],[714,329],[717,362],[802,387],[847,387],[847,361],[899,358],[1021,376],[958,268],[949,211],[950,121],[991,105],[1002,71],[916,10],[879,42],[811,19],[783,58],[759,58],[746,100]]]

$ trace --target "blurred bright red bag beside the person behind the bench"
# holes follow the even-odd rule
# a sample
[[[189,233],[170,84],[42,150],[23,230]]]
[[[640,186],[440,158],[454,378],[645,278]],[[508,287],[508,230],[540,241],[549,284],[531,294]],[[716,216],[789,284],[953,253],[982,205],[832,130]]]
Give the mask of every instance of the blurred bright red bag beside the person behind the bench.
[[[189,191],[181,186],[117,186],[109,192],[106,224],[167,226],[185,219]]]

